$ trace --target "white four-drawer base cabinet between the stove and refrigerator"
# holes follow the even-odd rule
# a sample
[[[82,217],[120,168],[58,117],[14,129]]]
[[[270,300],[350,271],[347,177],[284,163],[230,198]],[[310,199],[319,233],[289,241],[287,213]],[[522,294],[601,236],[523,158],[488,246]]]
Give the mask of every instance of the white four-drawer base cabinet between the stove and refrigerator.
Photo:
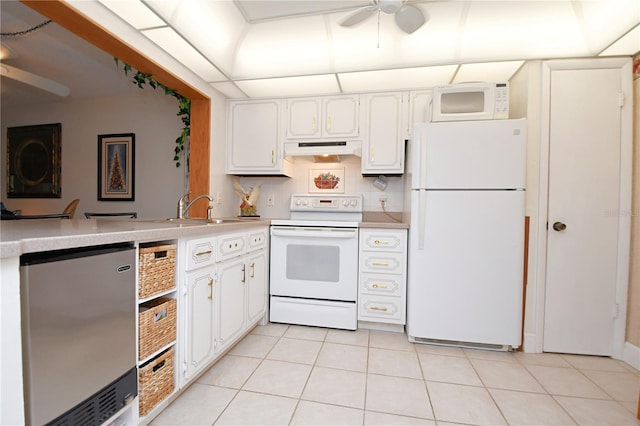
[[[406,322],[407,230],[360,230],[358,320]]]

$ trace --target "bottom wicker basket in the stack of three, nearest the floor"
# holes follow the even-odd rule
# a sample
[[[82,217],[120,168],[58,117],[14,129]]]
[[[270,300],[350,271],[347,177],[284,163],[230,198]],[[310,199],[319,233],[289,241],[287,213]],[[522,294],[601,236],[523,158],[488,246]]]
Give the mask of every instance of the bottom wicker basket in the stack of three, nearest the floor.
[[[139,395],[140,415],[146,416],[159,402],[164,400],[174,389],[174,350],[171,347],[157,358],[140,367]]]

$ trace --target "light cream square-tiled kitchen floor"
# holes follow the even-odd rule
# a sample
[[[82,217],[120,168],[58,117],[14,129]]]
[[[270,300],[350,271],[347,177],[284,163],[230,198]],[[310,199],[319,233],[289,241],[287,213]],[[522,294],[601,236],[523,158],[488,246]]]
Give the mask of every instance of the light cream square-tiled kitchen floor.
[[[640,425],[640,372],[610,358],[256,327],[152,425]]]

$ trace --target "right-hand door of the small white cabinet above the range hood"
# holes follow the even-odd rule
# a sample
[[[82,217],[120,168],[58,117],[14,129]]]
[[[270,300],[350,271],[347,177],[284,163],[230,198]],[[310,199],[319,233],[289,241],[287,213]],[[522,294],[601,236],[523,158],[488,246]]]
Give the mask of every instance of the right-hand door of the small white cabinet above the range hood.
[[[327,137],[357,137],[360,134],[360,97],[323,98],[323,133]]]

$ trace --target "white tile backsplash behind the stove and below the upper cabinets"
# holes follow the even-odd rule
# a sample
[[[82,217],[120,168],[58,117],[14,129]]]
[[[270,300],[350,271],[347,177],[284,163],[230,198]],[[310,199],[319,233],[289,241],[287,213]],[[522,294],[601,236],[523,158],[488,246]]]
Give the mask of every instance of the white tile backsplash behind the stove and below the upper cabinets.
[[[313,176],[328,172],[340,178],[345,194],[362,194],[364,210],[381,212],[380,197],[386,197],[386,210],[399,212],[404,204],[404,177],[385,176],[387,187],[380,190],[373,185],[376,177],[362,176],[360,157],[344,156],[339,163],[315,163],[311,158],[296,157],[294,159],[294,175],[288,177],[240,177],[240,184],[249,189],[260,186],[257,202],[257,214],[263,218],[288,218],[291,194],[308,194],[310,180]],[[313,173],[310,171],[313,170]],[[342,171],[344,170],[344,175]],[[313,174],[313,176],[311,176]],[[312,184],[313,185],[313,184]],[[328,190],[329,192],[331,190]],[[274,196],[274,205],[267,206],[267,198]],[[240,197],[235,197],[235,205],[240,206]]]

